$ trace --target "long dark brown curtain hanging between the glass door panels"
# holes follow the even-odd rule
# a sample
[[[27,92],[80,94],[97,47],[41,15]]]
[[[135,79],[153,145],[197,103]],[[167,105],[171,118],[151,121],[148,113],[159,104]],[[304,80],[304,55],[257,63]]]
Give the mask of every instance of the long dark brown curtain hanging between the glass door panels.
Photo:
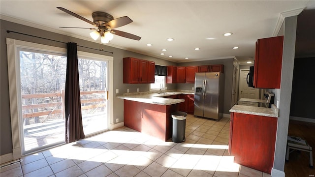
[[[85,138],[82,126],[76,43],[67,43],[67,70],[65,77],[65,140],[67,143],[71,143]]]

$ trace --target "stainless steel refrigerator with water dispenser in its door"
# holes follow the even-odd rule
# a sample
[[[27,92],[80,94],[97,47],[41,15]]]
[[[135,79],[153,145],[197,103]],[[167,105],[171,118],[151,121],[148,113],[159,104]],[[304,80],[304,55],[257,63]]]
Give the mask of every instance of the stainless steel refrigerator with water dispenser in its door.
[[[224,75],[195,73],[194,113],[196,117],[220,120],[223,115]]]

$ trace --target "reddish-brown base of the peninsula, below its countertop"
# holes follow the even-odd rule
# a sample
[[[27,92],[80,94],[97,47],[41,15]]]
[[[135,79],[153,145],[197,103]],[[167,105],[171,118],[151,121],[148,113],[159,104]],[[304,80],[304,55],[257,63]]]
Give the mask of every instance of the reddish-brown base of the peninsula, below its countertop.
[[[157,105],[124,100],[126,127],[166,141],[172,137],[171,114],[178,111],[178,104]]]

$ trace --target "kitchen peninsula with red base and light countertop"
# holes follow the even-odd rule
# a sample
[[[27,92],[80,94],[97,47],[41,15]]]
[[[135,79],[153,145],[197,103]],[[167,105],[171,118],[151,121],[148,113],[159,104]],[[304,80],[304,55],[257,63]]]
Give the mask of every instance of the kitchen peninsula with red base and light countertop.
[[[184,99],[163,98],[183,92],[137,92],[118,95],[124,99],[124,123],[126,127],[167,141],[172,137],[171,114],[179,109]],[[191,92],[189,94],[192,94]]]

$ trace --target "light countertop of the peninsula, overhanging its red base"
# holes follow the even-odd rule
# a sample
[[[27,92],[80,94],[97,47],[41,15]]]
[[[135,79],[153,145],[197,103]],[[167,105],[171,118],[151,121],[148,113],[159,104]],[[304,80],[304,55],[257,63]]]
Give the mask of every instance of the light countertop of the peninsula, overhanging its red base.
[[[116,98],[166,106],[166,105],[173,105],[173,104],[185,102],[184,99],[163,98],[164,96],[171,96],[171,95],[178,95],[178,94],[194,94],[194,93],[185,92],[185,91],[184,92],[183,91],[169,91],[162,94],[152,93],[152,92],[137,92],[137,93],[124,93],[124,95],[117,95]]]

